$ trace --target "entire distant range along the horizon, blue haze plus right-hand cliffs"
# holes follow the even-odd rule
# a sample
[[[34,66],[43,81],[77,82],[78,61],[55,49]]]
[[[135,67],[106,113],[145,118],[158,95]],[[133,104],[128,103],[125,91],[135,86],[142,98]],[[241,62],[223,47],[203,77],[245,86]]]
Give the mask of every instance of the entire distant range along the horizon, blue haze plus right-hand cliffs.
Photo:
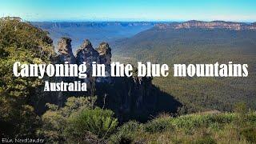
[[[256,29],[256,22],[202,22],[195,20],[188,22],[31,22],[31,24],[48,31],[55,45],[61,37],[72,38],[73,49],[77,49],[85,38],[90,39],[93,45],[103,41],[113,44],[114,41],[130,38],[152,27],[157,29]]]

